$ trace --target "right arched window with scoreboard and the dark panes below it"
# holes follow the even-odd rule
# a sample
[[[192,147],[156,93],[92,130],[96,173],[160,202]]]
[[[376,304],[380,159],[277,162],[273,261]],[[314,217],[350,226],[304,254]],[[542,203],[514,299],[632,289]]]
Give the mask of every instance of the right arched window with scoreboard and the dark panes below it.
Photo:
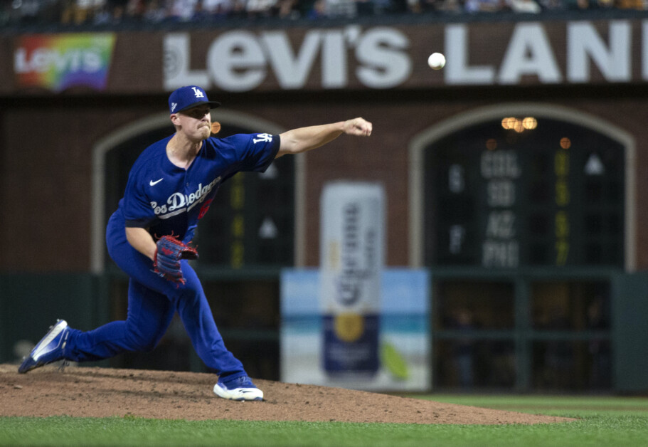
[[[498,105],[423,132],[410,157],[434,386],[609,389],[612,284],[634,268],[632,137],[576,110]]]

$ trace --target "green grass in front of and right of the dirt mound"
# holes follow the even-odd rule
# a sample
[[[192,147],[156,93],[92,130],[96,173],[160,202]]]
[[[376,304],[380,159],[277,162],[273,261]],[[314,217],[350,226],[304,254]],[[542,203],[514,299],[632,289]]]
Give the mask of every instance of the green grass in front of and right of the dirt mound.
[[[0,418],[0,446],[648,446],[648,399],[472,395],[421,398],[579,420],[533,426],[425,426],[10,417]]]

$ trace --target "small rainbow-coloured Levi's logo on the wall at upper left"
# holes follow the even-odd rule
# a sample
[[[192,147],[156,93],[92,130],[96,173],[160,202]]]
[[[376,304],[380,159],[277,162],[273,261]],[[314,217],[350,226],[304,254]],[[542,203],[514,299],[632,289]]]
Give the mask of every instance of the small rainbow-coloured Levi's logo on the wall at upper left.
[[[80,85],[104,90],[113,46],[114,33],[21,36],[14,52],[16,83],[55,92]]]

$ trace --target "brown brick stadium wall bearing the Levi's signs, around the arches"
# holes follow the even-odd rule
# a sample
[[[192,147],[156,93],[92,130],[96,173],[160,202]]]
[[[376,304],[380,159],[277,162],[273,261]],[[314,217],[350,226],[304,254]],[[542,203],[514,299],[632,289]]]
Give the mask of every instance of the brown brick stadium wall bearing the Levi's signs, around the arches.
[[[170,90],[205,85],[233,110],[277,127],[363,116],[371,140],[307,155],[304,264],[319,259],[327,179],[380,180],[388,264],[408,265],[408,144],[477,107],[565,107],[634,137],[634,228],[648,223],[648,22],[642,19],[390,23],[0,36],[4,271],[89,269],[92,148],[166,109]],[[444,70],[427,55],[448,56]],[[262,130],[260,130],[262,131]],[[169,126],[169,132],[172,132]],[[141,148],[134,148],[139,150]],[[634,265],[648,241],[634,235]]]

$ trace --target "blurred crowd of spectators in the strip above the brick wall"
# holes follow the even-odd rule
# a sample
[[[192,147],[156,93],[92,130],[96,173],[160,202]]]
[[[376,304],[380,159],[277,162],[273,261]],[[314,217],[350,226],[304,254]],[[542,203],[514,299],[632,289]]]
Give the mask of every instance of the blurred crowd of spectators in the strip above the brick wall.
[[[328,19],[376,14],[480,13],[585,9],[648,9],[648,0],[4,0],[0,26],[61,23],[119,25],[144,21],[197,22],[217,18]]]

